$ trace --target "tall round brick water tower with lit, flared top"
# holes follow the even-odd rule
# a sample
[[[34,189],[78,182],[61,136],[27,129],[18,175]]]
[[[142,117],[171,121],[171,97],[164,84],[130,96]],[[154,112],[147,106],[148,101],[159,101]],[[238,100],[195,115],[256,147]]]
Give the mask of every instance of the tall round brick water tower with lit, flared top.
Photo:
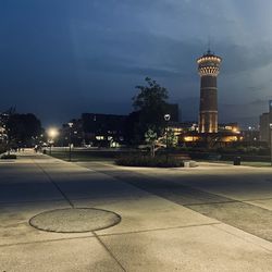
[[[222,59],[208,50],[197,60],[200,75],[199,133],[218,133],[218,84]]]

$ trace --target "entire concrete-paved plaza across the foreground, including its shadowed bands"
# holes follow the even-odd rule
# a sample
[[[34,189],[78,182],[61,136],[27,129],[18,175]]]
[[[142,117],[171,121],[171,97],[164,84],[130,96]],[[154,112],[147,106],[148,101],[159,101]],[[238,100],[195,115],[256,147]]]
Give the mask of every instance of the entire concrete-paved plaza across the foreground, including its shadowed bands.
[[[270,168],[124,168],[32,150],[0,161],[0,272],[271,268]]]

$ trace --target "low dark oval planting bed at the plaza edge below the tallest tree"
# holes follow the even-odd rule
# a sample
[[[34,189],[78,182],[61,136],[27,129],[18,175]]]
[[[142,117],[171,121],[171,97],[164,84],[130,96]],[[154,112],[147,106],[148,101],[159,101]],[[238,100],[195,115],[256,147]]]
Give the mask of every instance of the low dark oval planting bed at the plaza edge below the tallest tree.
[[[131,154],[122,156],[115,160],[118,165],[123,166],[146,166],[146,168],[180,168],[183,165],[183,161],[176,158],[171,158],[166,156],[140,156]]]

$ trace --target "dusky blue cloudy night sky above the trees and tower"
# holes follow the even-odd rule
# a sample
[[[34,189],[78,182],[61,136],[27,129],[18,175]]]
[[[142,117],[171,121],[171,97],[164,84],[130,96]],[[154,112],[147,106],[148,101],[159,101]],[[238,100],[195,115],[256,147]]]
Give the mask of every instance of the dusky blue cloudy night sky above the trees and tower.
[[[271,0],[1,0],[0,111],[45,126],[127,114],[150,76],[197,120],[196,59],[210,40],[223,58],[219,119],[252,125],[272,98],[271,14]]]

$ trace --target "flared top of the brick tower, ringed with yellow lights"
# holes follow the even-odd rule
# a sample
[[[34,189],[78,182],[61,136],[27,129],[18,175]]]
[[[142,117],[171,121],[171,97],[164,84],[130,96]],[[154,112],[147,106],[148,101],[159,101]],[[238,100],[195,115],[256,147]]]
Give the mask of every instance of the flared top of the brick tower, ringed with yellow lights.
[[[221,61],[222,59],[220,57],[208,50],[207,53],[197,59],[199,75],[218,76]]]

